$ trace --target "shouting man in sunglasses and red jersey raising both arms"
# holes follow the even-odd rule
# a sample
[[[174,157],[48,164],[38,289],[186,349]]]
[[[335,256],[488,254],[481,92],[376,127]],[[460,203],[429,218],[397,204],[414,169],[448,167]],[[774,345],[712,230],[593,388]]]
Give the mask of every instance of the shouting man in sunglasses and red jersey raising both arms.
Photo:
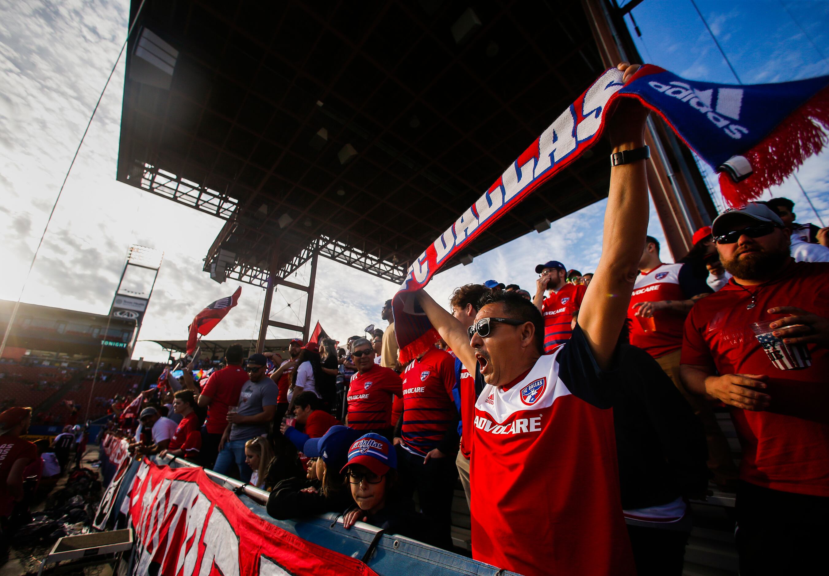
[[[638,69],[620,64],[623,82]],[[602,259],[572,336],[544,353],[544,319],[516,293],[490,293],[472,337],[424,291],[429,322],[476,379],[471,426],[473,558],[526,576],[635,574],[613,434],[614,351],[647,229],[647,110],[620,101]],[[623,153],[621,153],[623,152]]]

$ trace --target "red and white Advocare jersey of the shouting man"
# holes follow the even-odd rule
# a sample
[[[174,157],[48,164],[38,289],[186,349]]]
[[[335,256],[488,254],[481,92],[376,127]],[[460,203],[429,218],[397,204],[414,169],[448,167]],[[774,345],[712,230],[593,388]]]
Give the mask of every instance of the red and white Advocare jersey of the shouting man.
[[[525,576],[635,574],[610,387],[584,334],[475,403],[473,558]]]

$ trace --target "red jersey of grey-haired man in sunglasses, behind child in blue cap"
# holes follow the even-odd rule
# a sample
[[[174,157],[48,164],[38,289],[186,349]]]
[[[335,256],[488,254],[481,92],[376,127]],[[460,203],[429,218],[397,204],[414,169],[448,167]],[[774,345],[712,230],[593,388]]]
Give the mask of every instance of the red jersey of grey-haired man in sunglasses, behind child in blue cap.
[[[348,386],[348,426],[355,430],[379,430],[393,426],[392,395],[400,396],[403,380],[395,370],[372,365],[365,373],[356,372]]]

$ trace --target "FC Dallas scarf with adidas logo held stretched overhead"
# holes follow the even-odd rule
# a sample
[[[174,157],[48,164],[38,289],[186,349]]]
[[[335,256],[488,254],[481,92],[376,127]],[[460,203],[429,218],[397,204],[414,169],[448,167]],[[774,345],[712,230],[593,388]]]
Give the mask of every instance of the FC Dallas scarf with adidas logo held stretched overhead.
[[[734,86],[684,80],[654,65],[643,65],[627,85],[622,75],[613,68],[599,76],[412,264],[393,302],[401,362],[438,340],[410,293],[424,288],[448,259],[593,146],[619,98],[636,98],[659,114],[720,172],[720,188],[731,206],[783,182],[827,143],[829,76]]]

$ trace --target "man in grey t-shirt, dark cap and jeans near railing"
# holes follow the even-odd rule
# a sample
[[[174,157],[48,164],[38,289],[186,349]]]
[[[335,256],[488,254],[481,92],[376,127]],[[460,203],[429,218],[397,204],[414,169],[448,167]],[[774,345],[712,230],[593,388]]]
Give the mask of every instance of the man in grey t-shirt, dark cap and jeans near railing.
[[[239,393],[238,408],[227,414],[227,428],[222,434],[216,467],[213,468],[220,474],[227,474],[230,465],[236,462],[242,482],[249,482],[253,474],[245,462],[245,443],[250,438],[267,434],[276,414],[279,388],[264,374],[267,365],[268,359],[263,354],[248,358],[245,368],[248,381]]]

